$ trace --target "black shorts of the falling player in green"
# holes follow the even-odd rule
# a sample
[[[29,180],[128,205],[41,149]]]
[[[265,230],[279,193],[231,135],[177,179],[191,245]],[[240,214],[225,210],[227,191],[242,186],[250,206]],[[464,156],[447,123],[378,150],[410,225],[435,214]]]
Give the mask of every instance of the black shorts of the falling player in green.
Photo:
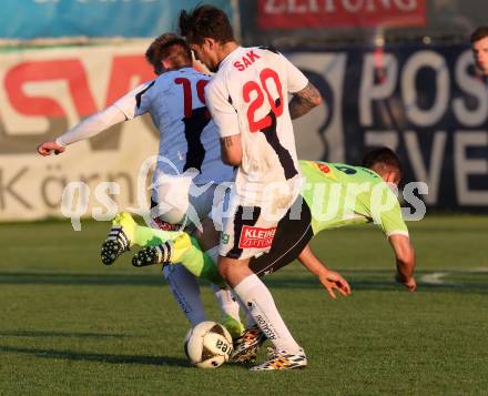
[[[292,216],[291,214],[295,212],[294,206],[301,203],[301,215]],[[294,220],[296,217],[299,219]],[[314,233],[311,210],[305,200],[298,196],[292,209],[279,221],[270,252],[251,258],[250,268],[258,276],[279,270],[298,257]]]

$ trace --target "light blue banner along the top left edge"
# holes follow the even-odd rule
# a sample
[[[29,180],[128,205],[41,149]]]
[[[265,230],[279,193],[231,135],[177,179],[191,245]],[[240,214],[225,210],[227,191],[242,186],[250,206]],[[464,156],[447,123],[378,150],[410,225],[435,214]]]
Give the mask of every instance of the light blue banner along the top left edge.
[[[196,0],[3,0],[0,39],[156,37]],[[230,1],[205,1],[232,17]]]

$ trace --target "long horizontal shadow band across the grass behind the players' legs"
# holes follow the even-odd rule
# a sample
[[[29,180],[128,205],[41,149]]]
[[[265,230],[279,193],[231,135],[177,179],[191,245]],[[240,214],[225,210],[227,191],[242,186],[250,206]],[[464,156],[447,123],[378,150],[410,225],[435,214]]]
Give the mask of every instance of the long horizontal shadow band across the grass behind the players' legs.
[[[392,270],[340,270],[353,290],[362,291],[395,291],[403,290],[394,282]],[[438,283],[421,282],[423,275],[446,273],[448,280]],[[476,282],[464,281],[462,277],[476,276]],[[453,280],[454,277],[454,280]],[[461,277],[456,281],[456,277]],[[418,292],[448,291],[460,293],[488,293],[488,271],[454,271],[438,270],[436,272],[417,272]],[[482,283],[482,281],[486,281]],[[277,272],[265,277],[265,283],[272,288],[315,288],[318,281],[308,274]],[[166,283],[155,274],[80,274],[80,273],[32,273],[32,272],[0,272],[0,284],[3,285],[99,285],[99,286],[156,286]]]

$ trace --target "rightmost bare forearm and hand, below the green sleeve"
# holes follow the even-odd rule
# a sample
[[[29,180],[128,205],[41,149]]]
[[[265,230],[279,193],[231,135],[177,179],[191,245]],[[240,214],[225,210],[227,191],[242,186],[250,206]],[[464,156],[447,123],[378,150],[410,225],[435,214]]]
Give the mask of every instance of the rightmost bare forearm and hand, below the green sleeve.
[[[409,292],[417,290],[415,282],[415,251],[410,244],[410,240],[406,235],[394,234],[388,238],[396,256],[397,274],[395,280],[401,283]]]

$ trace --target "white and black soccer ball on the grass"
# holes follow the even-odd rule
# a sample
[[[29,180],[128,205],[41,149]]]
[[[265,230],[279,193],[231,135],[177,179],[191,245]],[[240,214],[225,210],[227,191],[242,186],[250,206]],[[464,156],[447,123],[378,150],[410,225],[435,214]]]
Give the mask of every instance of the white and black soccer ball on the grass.
[[[215,322],[202,322],[190,328],[185,337],[185,354],[200,368],[216,368],[232,354],[232,337],[227,329]]]

